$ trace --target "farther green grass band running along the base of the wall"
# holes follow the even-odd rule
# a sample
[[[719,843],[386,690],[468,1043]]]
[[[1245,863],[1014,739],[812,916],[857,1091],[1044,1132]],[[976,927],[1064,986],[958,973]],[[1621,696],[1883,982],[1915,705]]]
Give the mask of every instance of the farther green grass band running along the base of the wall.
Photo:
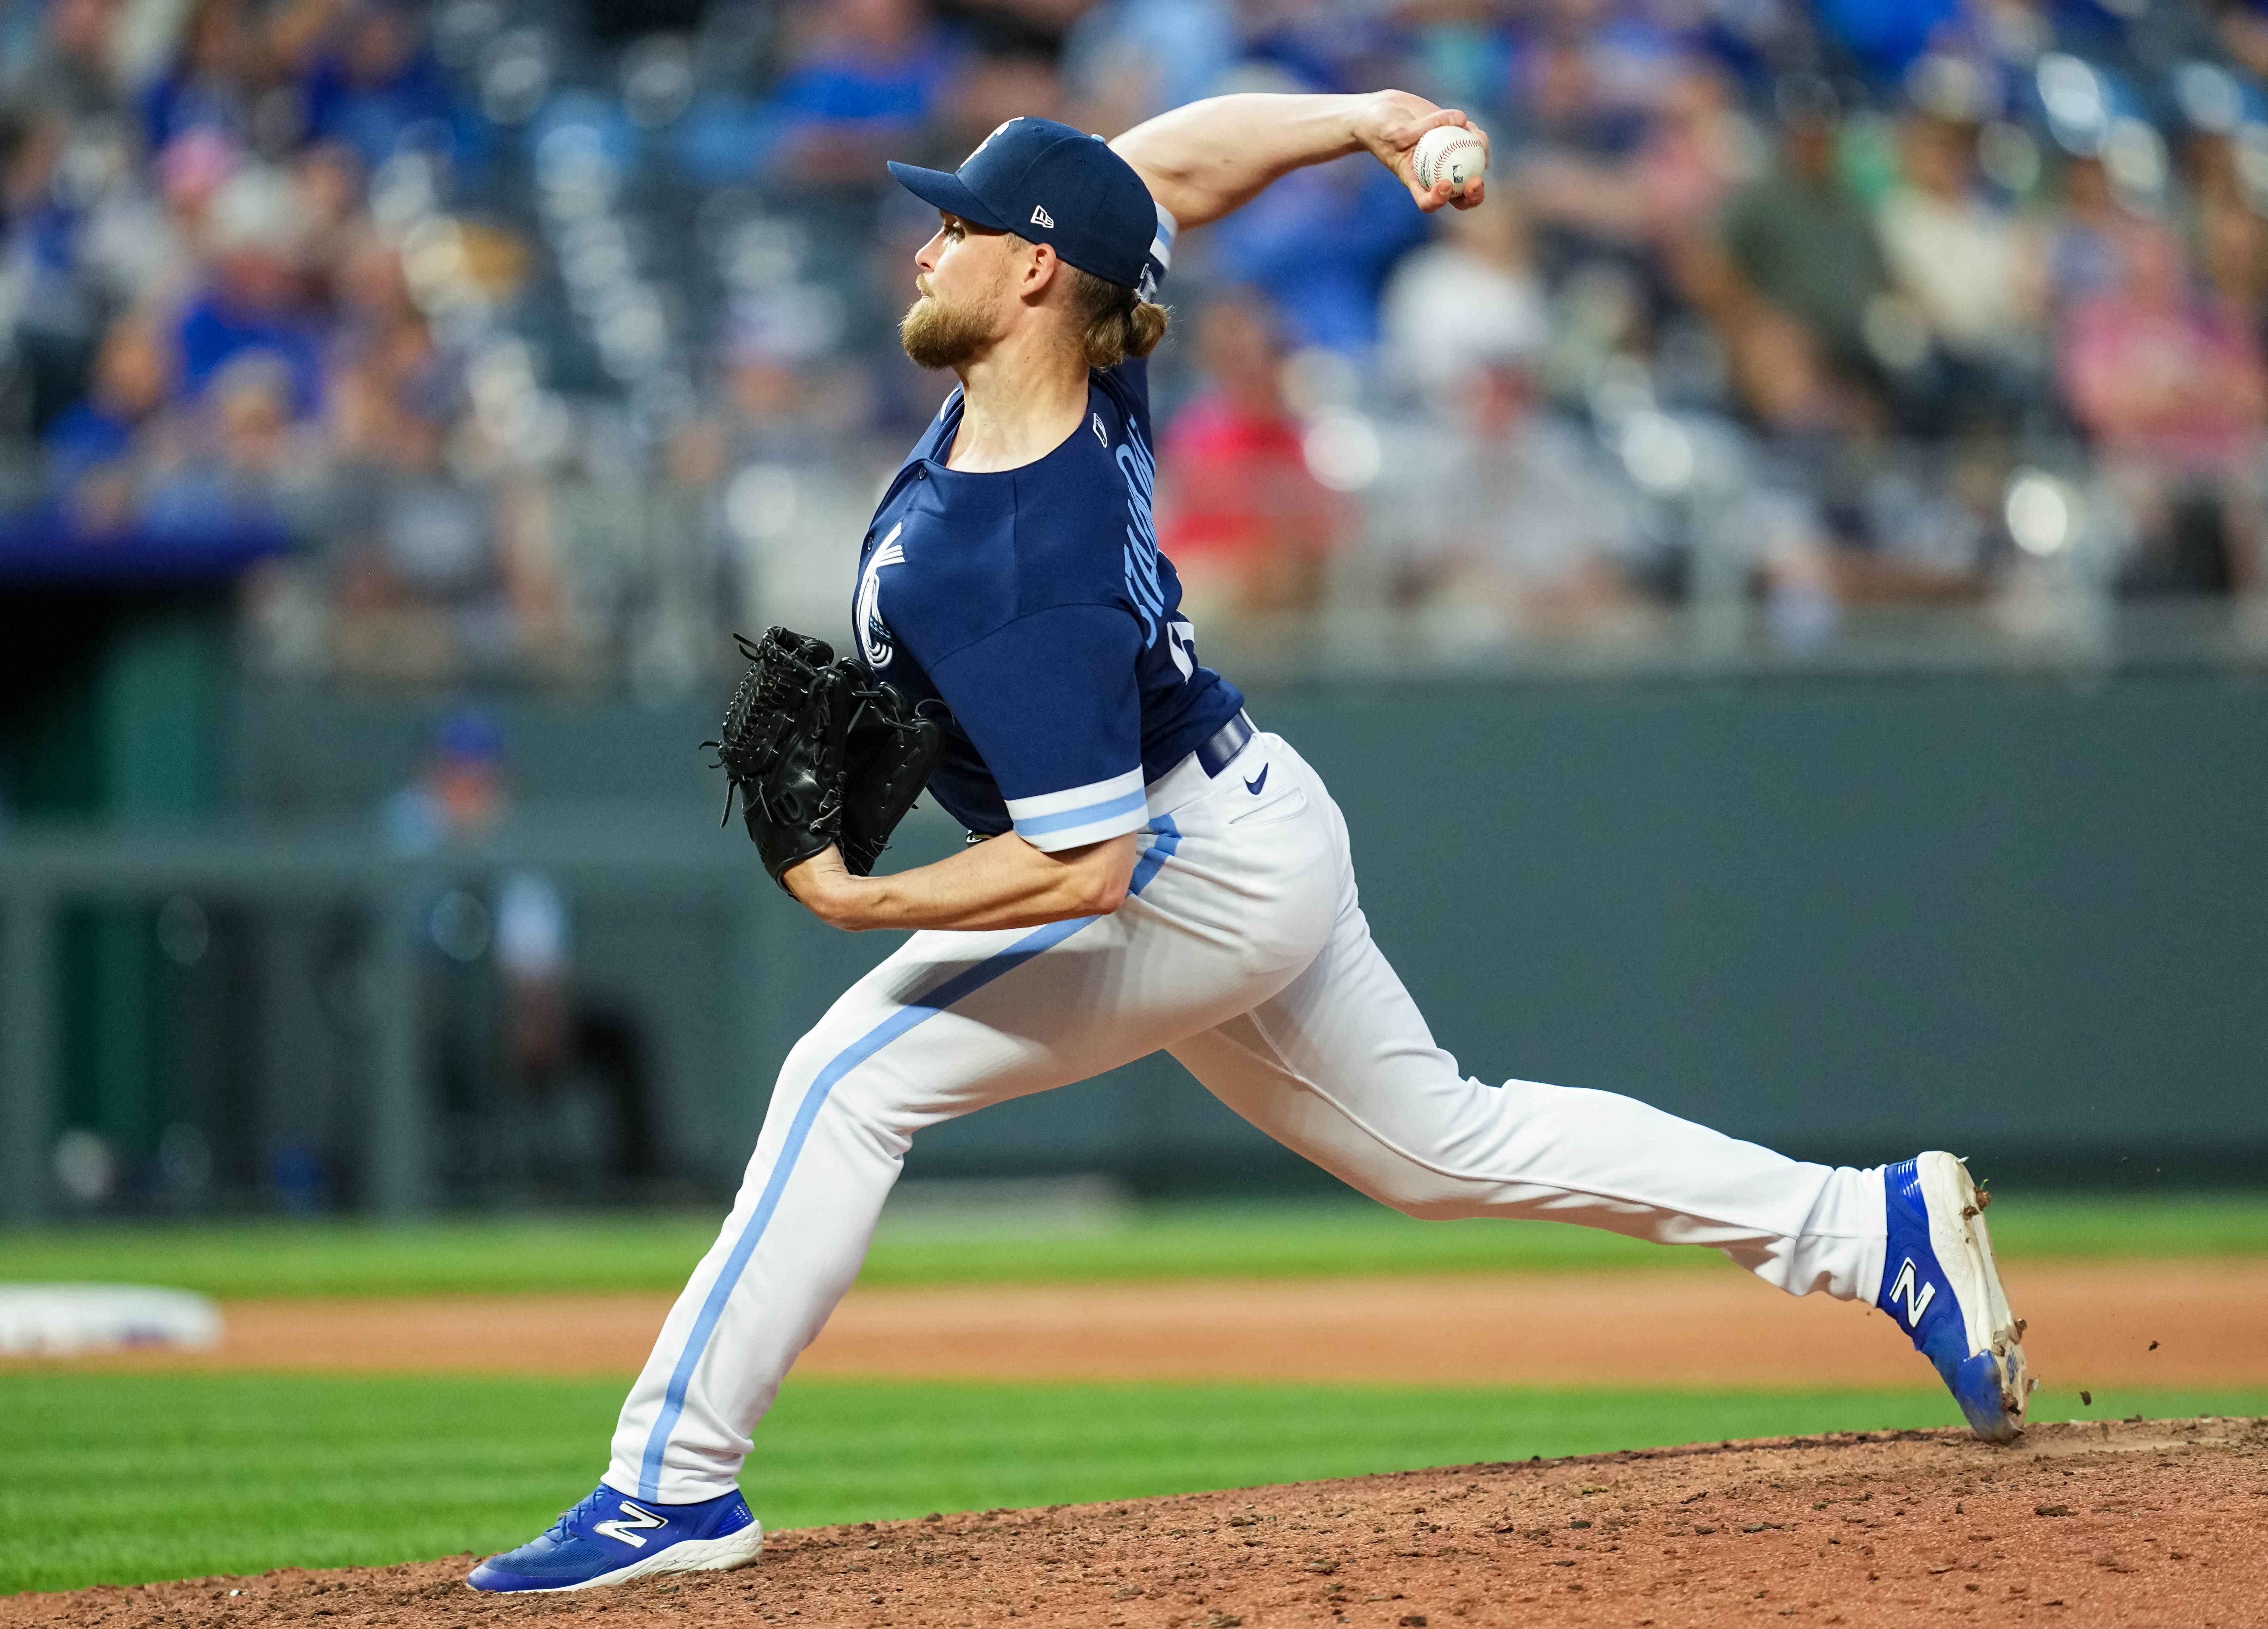
[[[0,1277],[177,1284],[222,1300],[451,1291],[678,1289],[721,1214],[372,1223],[88,1225],[7,1236]],[[2007,1198],[2005,1259],[2268,1255],[2268,1193]],[[1422,1223],[1363,1200],[1150,1205],[1061,1236],[885,1232],[866,1284],[1005,1284],[1345,1273],[1517,1273],[1724,1266],[1560,1223]]]

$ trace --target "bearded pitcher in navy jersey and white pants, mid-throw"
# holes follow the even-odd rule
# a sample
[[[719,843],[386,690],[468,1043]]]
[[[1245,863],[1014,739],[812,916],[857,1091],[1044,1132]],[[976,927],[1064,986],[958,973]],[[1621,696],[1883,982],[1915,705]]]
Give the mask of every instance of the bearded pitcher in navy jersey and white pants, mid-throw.
[[[2014,1436],[2021,1325],[1953,1155],[1819,1166],[1608,1091],[1467,1078],[1370,939],[1322,778],[1198,660],[1150,513],[1143,358],[1175,234],[1359,152],[1440,209],[1411,166],[1438,125],[1465,118],[1395,91],[1229,95],[1114,143],[1014,118],[953,175],[891,166],[939,211],[905,349],[959,388],[866,531],[853,633],[946,715],[930,790],[980,842],[889,876],[835,849],[782,873],[823,921],[916,932],[782,1064],[601,1484],[474,1588],[755,1561],[751,1432],[857,1277],[912,1139],[1159,1048],[1413,1216],[1706,1243],[1785,1291],[1871,1300],[1980,1434]]]

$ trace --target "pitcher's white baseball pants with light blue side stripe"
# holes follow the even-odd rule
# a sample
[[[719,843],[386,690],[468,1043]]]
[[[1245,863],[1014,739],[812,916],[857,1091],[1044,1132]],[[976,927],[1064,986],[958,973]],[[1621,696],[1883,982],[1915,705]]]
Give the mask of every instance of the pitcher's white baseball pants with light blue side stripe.
[[[608,1486],[694,1502],[857,1277],[925,1125],[1159,1048],[1281,1143],[1413,1216],[1545,1216],[1717,1246],[1796,1295],[1873,1298],[1882,1173],[1799,1164],[1644,1103],[1458,1073],[1386,964],[1322,780],[1261,733],[1150,787],[1109,917],[919,932],[805,1035],[748,1178],[615,1429]]]

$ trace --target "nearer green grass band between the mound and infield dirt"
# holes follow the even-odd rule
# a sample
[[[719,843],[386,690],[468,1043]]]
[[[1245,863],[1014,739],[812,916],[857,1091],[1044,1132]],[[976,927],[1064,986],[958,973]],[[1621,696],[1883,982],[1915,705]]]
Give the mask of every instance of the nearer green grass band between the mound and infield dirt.
[[[621,1389],[551,1379],[0,1379],[0,1593],[510,1547],[590,1491]],[[2041,1393],[2039,1418],[2261,1413],[2268,1391]],[[767,1527],[1259,1486],[1733,1436],[1950,1425],[1937,1391],[789,1382]]]

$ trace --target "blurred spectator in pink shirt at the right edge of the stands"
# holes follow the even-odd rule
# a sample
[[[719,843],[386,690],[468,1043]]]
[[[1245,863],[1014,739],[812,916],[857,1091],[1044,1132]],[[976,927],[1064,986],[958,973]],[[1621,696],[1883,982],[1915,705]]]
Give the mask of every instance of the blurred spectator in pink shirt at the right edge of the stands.
[[[2259,338],[2200,295],[2170,231],[2136,231],[2125,281],[2071,309],[2059,368],[2071,411],[2134,510],[2134,592],[2261,581]]]

